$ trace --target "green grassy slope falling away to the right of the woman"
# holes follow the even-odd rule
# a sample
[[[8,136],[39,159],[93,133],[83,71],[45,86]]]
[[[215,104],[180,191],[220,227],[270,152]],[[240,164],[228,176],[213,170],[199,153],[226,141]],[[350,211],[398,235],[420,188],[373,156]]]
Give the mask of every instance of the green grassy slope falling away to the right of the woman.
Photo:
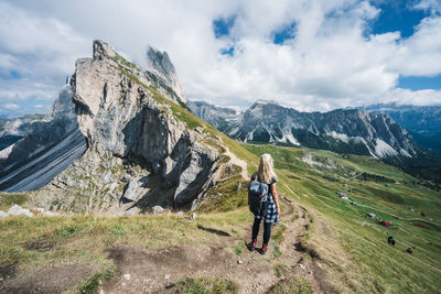
[[[256,154],[271,153],[276,159],[280,183],[287,184],[300,197],[295,197],[297,200],[315,214],[322,227],[325,224],[324,229],[313,230],[310,246],[315,247],[331,264],[337,264],[331,266],[337,271],[329,275],[337,287],[343,291],[349,287],[357,292],[411,293],[437,292],[441,287],[438,279],[441,271],[432,268],[441,269],[441,227],[426,222],[431,217],[433,222],[441,224],[439,192],[413,185],[409,175],[365,156],[351,155],[345,159],[327,151],[245,146]],[[316,162],[325,163],[331,159],[337,167],[311,167],[301,161],[305,153],[314,154]],[[396,183],[349,179],[364,172],[394,178]],[[348,176],[343,179],[340,177],[342,174]],[[325,177],[340,181],[330,182]],[[335,194],[338,190],[367,207],[341,202]],[[410,208],[418,213],[410,211]],[[424,211],[427,217],[420,217],[420,211]],[[394,226],[378,226],[366,217],[366,213],[375,213],[380,219],[392,221]],[[389,235],[397,239],[396,247],[387,244]],[[343,251],[330,244],[333,239]],[[405,251],[411,246],[416,247],[413,254]]]

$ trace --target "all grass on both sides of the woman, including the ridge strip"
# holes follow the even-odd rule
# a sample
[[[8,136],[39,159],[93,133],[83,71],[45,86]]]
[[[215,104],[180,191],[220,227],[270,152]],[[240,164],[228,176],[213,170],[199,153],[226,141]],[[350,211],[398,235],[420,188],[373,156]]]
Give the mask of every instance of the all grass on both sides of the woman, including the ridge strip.
[[[127,70],[121,72],[132,78]],[[135,77],[132,79],[136,80]],[[413,185],[409,175],[365,156],[344,157],[329,151],[241,145],[165,99],[154,88],[146,87],[158,101],[169,104],[175,118],[184,121],[189,128],[202,127],[213,135],[213,140],[220,138],[233,153],[247,161],[248,172],[256,168],[260,154],[273,155],[280,194],[305,207],[314,220],[308,238],[304,238],[304,246],[320,254],[322,266],[330,273],[327,277],[336,288],[344,292],[413,293],[433,293],[441,288],[438,279],[441,272],[435,270],[441,269],[440,227],[411,220],[421,217],[409,210],[422,210],[440,224],[439,193]],[[306,154],[313,154],[315,165],[301,161]],[[385,177],[391,183],[357,181],[363,173]],[[325,177],[338,182],[330,182]],[[88,288],[115,271],[115,264],[107,259],[106,250],[116,244],[144,248],[163,248],[178,243],[204,246],[213,236],[198,229],[198,225],[243,236],[245,228],[251,224],[251,216],[243,207],[246,204],[245,190],[240,193],[235,189],[237,181],[225,181],[213,187],[211,193],[222,192],[222,196],[212,206],[205,207],[206,211],[212,213],[201,215],[196,221],[176,216],[0,219],[0,268],[15,264],[25,270],[58,262],[92,262],[99,265],[99,274],[76,287]],[[351,192],[343,187],[344,183]],[[335,194],[337,190],[347,193],[352,199],[365,206],[341,203]],[[15,197],[23,202],[25,195]],[[0,198],[3,209],[11,205],[10,195],[1,194]],[[365,216],[367,211],[391,220],[394,228],[379,227]],[[391,233],[397,239],[396,247],[389,247],[386,242],[387,236]],[[94,247],[90,247],[90,239],[94,239]],[[39,246],[51,249],[39,250]],[[416,247],[412,255],[405,252],[409,246]]]

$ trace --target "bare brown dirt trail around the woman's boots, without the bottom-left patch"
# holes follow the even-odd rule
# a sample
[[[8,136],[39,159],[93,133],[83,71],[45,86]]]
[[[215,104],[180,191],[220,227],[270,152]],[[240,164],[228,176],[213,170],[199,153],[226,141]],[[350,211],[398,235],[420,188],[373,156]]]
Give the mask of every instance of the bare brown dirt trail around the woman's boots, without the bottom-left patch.
[[[284,203],[281,224],[286,227],[284,240],[279,244],[281,255],[275,257],[275,247],[270,246],[266,255],[250,252],[245,243],[249,242],[251,225],[240,237],[224,237],[212,229],[214,238],[209,246],[170,247],[159,251],[148,251],[136,247],[115,247],[108,252],[118,268],[118,273],[99,293],[174,293],[174,282],[184,277],[212,276],[232,280],[240,285],[240,293],[266,293],[282,277],[278,277],[273,265],[283,263],[284,271],[305,279],[314,292],[334,293],[325,282],[323,271],[314,262],[306,262],[310,254],[300,246],[310,219],[305,210]],[[299,216],[295,219],[295,216]],[[281,226],[281,225],[278,225]],[[204,228],[209,230],[209,228]],[[261,246],[260,228],[258,247]],[[232,246],[244,242],[244,250],[238,255]],[[272,263],[271,263],[272,261]]]

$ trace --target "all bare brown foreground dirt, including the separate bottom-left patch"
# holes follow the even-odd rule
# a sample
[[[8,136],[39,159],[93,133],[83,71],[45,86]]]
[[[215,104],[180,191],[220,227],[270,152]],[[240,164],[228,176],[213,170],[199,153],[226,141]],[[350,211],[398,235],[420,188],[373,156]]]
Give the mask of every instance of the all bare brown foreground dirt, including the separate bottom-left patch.
[[[280,225],[272,228],[271,239],[275,232],[284,228],[283,237],[279,242],[270,242],[266,255],[246,248],[252,224],[235,236],[200,225],[200,229],[213,233],[203,246],[149,250],[119,244],[108,249],[107,258],[114,260],[117,272],[110,281],[99,285],[97,293],[175,293],[175,283],[184,277],[227,279],[239,285],[239,293],[267,293],[293,275],[306,280],[315,293],[335,293],[318,262],[320,258],[302,246],[311,224],[306,209],[282,195],[280,199],[283,213]],[[261,247],[261,238],[262,227],[258,247]],[[46,250],[46,246],[43,249]],[[277,265],[281,265],[278,271]],[[14,269],[9,266],[0,271],[0,293],[61,293],[86,281],[98,270],[88,263],[61,263],[25,272],[14,272]]]

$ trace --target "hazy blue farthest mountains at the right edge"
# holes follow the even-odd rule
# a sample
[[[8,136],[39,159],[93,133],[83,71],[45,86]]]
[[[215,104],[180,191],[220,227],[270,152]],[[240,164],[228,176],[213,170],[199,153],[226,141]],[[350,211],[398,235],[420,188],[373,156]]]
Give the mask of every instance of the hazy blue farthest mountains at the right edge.
[[[417,144],[441,154],[441,106],[378,104],[362,107],[365,111],[386,113],[401,124]]]

